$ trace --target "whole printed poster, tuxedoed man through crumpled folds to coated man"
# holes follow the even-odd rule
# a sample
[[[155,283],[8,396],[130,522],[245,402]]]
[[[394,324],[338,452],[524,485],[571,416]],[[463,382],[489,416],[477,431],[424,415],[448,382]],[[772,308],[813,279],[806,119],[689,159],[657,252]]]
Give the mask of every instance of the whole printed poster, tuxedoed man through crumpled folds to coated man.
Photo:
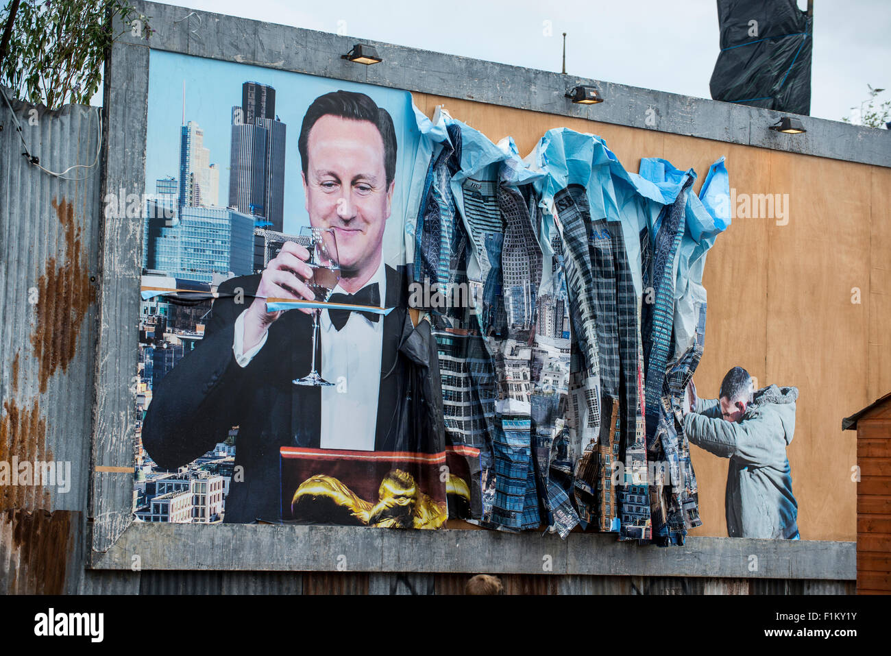
[[[683,544],[693,443],[730,459],[729,535],[797,537],[797,390],[692,384],[730,223],[723,160],[695,176],[151,51],[137,519]]]

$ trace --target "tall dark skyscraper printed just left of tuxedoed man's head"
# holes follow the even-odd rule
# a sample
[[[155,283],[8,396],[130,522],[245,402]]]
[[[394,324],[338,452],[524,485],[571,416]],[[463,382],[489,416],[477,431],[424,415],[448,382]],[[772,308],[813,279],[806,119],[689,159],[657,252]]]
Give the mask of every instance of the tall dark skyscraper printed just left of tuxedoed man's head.
[[[241,85],[232,108],[229,206],[257,217],[257,226],[282,231],[286,126],[275,116],[275,89]],[[255,269],[263,267],[263,240],[255,244]]]

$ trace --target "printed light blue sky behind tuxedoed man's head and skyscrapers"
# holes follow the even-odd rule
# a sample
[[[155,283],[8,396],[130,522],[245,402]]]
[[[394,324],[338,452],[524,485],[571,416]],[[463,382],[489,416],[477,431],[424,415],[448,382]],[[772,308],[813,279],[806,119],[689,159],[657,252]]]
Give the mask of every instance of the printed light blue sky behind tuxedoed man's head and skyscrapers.
[[[380,107],[386,109],[396,127],[399,150],[391,216],[400,217],[400,220],[388,222],[384,249],[389,261],[396,262],[396,258],[403,257],[401,217],[405,216],[408,205],[408,181],[413,173],[414,152],[418,145],[411,94],[246,64],[206,61],[177,53],[152,50],[150,58],[149,94],[152,102],[148,110],[144,193],[156,193],[156,182],[160,179],[173,176],[178,180],[183,121],[186,124],[193,121],[203,134],[202,145],[208,149],[208,164],[216,165],[218,169],[217,204],[229,205],[233,107],[242,104],[242,85],[257,82],[274,88],[274,114],[282,124],[290,127],[285,140],[282,230],[297,234],[300,226],[308,223],[297,144],[303,115],[319,95],[334,89],[358,91],[371,95]]]

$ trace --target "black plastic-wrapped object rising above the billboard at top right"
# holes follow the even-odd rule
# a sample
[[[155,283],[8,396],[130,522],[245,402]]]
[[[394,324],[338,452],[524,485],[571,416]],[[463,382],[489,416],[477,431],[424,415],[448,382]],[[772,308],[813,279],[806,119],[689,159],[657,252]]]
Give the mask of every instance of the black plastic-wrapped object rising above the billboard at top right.
[[[813,16],[795,0],[717,0],[721,53],[712,98],[808,115]]]

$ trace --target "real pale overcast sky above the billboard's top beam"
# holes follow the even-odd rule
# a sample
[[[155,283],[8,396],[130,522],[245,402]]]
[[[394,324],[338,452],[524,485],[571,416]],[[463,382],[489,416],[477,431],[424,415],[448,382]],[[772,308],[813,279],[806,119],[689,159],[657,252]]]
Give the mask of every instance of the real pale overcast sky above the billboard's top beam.
[[[440,53],[710,97],[715,0],[176,0],[167,4]],[[799,6],[806,0],[799,0]],[[447,7],[447,12],[446,12]],[[546,36],[550,21],[552,36]],[[158,29],[158,26],[155,26]],[[811,114],[839,120],[891,89],[891,0],[815,0]],[[891,97],[891,92],[880,96]]]

